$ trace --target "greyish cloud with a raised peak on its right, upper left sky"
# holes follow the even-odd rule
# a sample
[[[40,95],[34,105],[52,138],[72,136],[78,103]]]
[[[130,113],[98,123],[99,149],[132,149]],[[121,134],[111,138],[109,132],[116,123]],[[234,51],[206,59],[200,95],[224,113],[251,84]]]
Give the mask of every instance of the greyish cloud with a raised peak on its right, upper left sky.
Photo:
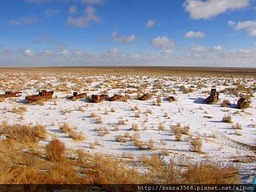
[[[84,10],[85,14],[83,16],[79,16],[77,18],[73,18],[72,16],[68,17],[67,23],[71,26],[75,27],[89,27],[90,22],[101,23],[101,18],[96,14],[96,10],[88,6]]]

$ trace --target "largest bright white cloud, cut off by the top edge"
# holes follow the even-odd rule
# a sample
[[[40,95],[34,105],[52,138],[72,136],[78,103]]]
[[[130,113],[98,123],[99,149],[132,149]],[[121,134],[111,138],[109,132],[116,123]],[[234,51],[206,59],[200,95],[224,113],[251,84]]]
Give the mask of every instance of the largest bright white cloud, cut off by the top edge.
[[[249,5],[249,0],[186,0],[185,11],[192,19],[210,19],[228,10],[241,9]]]

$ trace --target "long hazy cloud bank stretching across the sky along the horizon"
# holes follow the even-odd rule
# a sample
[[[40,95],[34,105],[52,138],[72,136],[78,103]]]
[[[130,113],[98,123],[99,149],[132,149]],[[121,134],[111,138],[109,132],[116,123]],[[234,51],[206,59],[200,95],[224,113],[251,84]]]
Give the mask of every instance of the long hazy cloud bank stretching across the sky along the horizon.
[[[156,44],[159,45],[159,43]],[[127,53],[117,48],[109,49],[104,53],[89,53],[73,49],[66,50],[69,53],[67,56],[63,56],[64,49],[52,49],[43,52],[32,52],[30,49],[19,49],[19,52],[0,50],[0,66],[133,66],[139,64],[142,66],[255,67],[256,47],[233,51],[224,49],[214,51],[214,47],[204,49],[207,52],[193,52],[186,47],[183,50],[177,49],[177,52],[181,51],[177,55],[162,55],[155,52]],[[31,55],[31,52],[33,56],[26,56],[26,54]]]

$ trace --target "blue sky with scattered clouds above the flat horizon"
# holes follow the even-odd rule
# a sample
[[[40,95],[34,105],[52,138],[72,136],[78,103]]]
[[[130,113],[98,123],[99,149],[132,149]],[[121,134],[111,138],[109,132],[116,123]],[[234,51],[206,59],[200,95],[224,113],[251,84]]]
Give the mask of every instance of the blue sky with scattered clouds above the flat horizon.
[[[256,67],[256,0],[1,0],[0,67]]]

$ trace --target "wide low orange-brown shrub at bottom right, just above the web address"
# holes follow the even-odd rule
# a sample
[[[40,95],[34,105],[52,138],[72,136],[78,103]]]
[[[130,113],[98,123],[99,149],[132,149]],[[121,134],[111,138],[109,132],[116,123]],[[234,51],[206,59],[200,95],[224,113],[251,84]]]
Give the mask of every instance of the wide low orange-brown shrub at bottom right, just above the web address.
[[[184,182],[189,184],[236,184],[240,182],[238,174],[238,169],[232,165],[201,162],[190,166],[182,175]]]

